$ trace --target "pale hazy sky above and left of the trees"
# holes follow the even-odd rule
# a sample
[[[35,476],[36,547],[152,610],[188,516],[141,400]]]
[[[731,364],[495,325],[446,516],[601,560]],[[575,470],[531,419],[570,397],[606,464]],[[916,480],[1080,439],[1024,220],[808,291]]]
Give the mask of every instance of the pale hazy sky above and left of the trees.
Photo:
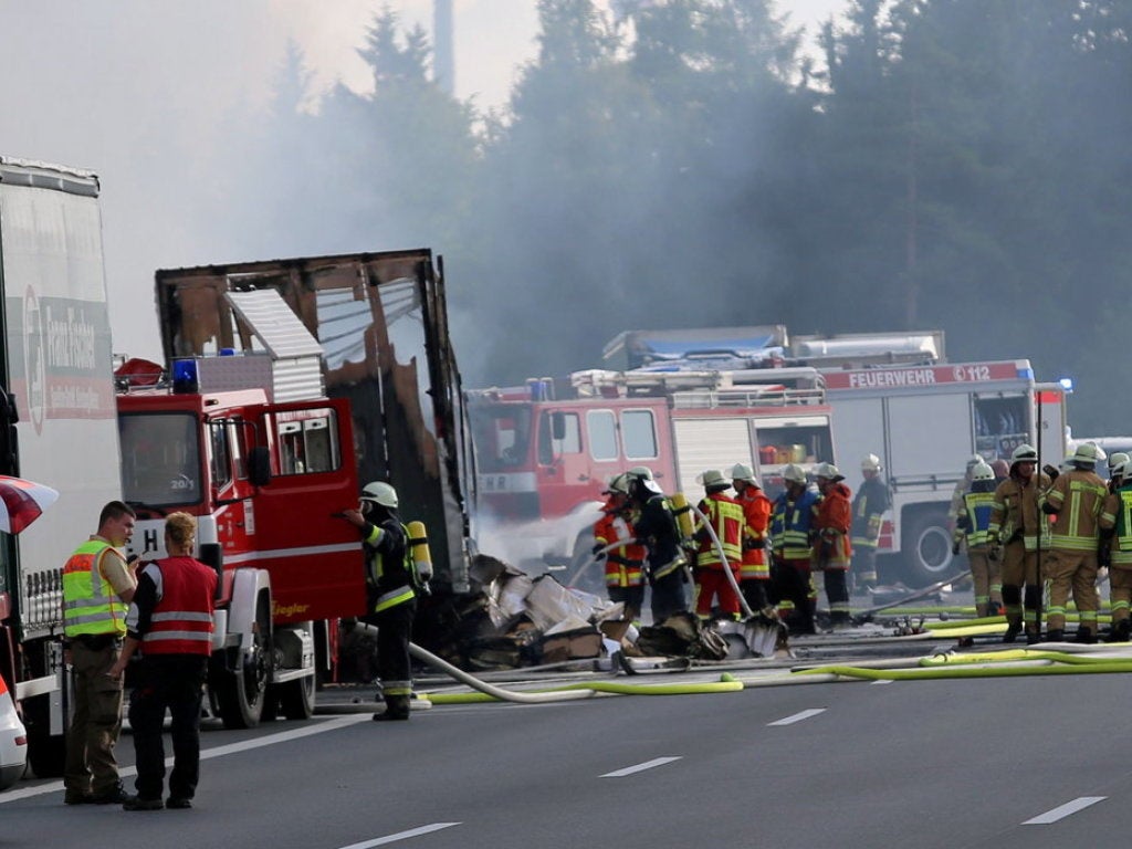
[[[778,6],[813,34],[844,2]],[[249,129],[264,118],[291,43],[312,102],[336,82],[366,91],[355,49],[385,6],[431,32],[431,0],[0,0],[0,155],[100,175],[115,353],[160,359],[154,271],[274,258],[216,256],[186,214],[223,204],[215,163],[232,130],[220,117],[238,111]],[[458,97],[506,102],[535,53],[535,6],[454,0]]]

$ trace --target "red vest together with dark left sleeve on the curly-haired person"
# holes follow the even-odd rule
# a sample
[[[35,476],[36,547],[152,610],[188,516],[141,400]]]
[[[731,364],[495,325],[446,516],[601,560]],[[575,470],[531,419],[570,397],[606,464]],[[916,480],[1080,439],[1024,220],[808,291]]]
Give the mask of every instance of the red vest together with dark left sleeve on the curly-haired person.
[[[142,654],[212,654],[216,572],[191,557],[149,563],[138,576],[128,633]]]

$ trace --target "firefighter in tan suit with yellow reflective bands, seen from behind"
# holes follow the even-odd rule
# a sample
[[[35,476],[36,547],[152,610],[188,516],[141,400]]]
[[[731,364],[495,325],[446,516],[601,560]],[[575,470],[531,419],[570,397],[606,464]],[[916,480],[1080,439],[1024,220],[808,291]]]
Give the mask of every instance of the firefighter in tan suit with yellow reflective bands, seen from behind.
[[[1038,503],[1054,516],[1049,534],[1049,557],[1043,568],[1049,578],[1049,619],[1047,638],[1058,643],[1065,637],[1065,602],[1070,590],[1081,617],[1077,642],[1097,642],[1097,548],[1101,516],[1113,524],[1115,516],[1104,512],[1108,487],[1094,471],[1105,453],[1092,443],[1079,445],[1073,469],[1062,472],[1044,490]]]

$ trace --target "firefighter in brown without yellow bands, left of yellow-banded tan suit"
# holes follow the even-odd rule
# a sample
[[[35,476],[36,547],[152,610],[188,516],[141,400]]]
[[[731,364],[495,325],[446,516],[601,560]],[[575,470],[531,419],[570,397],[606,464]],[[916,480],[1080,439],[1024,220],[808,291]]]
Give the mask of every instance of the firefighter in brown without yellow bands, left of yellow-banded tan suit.
[[[1013,643],[1022,633],[1026,642],[1037,643],[1038,544],[1048,548],[1049,525],[1038,509],[1038,492],[1049,486],[1049,475],[1038,472],[1038,452],[1032,445],[1019,445],[1011,454],[1010,477],[995,488],[987,526],[987,556],[1002,558],[1002,602],[1006,614],[1004,643]],[[1024,594],[1023,594],[1024,593]]]

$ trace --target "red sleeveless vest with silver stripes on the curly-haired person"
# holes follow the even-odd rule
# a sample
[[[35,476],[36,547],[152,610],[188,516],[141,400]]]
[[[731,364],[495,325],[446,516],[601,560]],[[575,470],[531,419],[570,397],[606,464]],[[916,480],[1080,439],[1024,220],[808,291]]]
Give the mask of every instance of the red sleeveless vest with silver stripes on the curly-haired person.
[[[166,557],[146,567],[161,574],[161,598],[142,635],[142,653],[212,654],[216,573],[191,557]]]

